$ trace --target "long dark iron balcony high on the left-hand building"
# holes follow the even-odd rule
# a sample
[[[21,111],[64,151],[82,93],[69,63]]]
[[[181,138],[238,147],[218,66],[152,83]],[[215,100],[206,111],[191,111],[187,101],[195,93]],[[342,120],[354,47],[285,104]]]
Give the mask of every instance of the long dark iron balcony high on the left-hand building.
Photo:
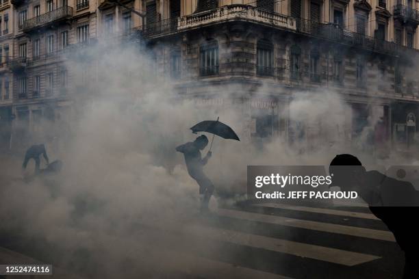
[[[27,32],[31,29],[44,27],[51,23],[57,23],[60,21],[66,21],[73,16],[73,8],[68,6],[63,6],[61,8],[55,9],[51,12],[41,14],[34,18],[29,18],[27,21],[23,22],[22,31]]]

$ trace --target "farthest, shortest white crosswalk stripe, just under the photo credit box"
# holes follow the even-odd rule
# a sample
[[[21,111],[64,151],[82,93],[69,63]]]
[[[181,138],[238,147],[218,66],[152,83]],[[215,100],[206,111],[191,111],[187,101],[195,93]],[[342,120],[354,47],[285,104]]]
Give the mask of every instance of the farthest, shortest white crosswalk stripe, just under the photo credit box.
[[[290,209],[294,211],[305,211],[305,212],[312,212],[312,213],[323,213],[323,214],[329,214],[329,215],[339,215],[339,216],[346,216],[346,217],[357,217],[357,218],[370,219],[370,220],[379,220],[379,218],[375,217],[374,214],[344,211],[344,210],[338,210],[338,209],[321,209],[318,207],[302,207],[302,206],[296,206],[296,205],[290,205],[290,204],[279,204],[279,203],[264,203],[264,204],[254,204],[254,205],[257,207]]]

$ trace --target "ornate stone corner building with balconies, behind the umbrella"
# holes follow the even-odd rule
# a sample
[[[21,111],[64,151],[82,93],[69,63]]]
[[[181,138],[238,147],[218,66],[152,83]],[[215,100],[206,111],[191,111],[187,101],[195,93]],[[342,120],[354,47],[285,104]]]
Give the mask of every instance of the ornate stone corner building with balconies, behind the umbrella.
[[[240,100],[247,108],[244,123],[251,123],[244,134],[255,141],[283,135],[309,148],[319,140],[333,144],[337,137],[350,143],[364,137],[365,142],[374,137],[365,133],[377,131],[381,140],[394,139],[396,145],[414,140],[416,3],[163,2],[147,1],[143,8],[144,36],[155,46],[159,68],[178,80],[186,97],[206,103]],[[350,107],[340,112],[346,118],[343,127],[290,119],[296,92],[324,91],[337,92]]]

